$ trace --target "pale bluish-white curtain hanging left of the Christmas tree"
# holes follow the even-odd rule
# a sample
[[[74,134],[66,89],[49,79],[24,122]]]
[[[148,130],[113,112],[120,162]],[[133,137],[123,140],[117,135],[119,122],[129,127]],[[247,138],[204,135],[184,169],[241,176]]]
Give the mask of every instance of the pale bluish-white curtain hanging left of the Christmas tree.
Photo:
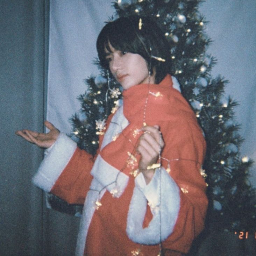
[[[79,112],[84,79],[99,74],[96,40],[112,14],[111,0],[50,1],[47,119],[66,133]]]

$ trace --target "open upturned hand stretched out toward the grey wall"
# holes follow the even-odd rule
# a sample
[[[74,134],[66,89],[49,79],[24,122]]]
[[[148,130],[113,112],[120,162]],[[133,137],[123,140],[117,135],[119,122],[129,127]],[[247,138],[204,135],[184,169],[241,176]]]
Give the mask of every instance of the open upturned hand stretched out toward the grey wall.
[[[36,144],[38,147],[50,148],[57,140],[59,130],[48,121],[45,121],[44,125],[50,130],[49,133],[37,133],[36,131],[22,130],[16,131],[15,134],[21,136],[28,142]]]

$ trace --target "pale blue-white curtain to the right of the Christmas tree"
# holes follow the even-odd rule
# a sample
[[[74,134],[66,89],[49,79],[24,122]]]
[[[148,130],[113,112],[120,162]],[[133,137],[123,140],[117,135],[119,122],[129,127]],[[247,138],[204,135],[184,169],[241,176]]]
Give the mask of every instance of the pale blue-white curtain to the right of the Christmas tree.
[[[212,74],[229,80],[226,95],[240,104],[235,113],[245,139],[241,154],[256,162],[256,1],[206,0],[200,10],[213,40],[208,53],[218,60]],[[255,165],[250,181],[256,187]]]

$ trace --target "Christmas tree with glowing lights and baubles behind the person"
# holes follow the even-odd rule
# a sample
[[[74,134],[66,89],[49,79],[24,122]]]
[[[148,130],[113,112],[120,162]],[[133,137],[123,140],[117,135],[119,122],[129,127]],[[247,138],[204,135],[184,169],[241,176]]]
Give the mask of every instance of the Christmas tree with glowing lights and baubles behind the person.
[[[190,103],[207,142],[201,175],[208,184],[209,207],[206,230],[246,230],[255,232],[255,190],[249,183],[253,162],[240,155],[243,138],[235,122],[232,98],[224,95],[227,80],[212,78],[216,59],[206,54],[211,40],[205,34],[206,21],[198,7],[200,0],[118,0],[113,3],[116,17],[150,16],[163,29],[170,43],[172,65],[169,73],[177,78],[183,96]],[[98,63],[96,63],[98,64]],[[72,138],[81,149],[96,154],[98,136],[105,120],[116,111],[122,98],[120,85],[99,66],[100,75],[86,80],[87,91],[79,96],[82,120],[71,119]],[[76,214],[79,206],[67,205],[50,195],[53,208]]]

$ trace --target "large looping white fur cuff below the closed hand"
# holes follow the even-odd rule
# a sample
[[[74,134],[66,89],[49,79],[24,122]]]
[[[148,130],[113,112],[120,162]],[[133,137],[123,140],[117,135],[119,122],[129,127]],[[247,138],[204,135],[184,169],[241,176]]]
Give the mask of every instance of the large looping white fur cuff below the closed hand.
[[[154,205],[151,207],[153,218],[147,228],[142,228],[147,201]],[[156,170],[146,187],[142,188],[136,182],[127,216],[126,233],[129,239],[142,244],[157,244],[160,238],[164,241],[173,231],[179,207],[179,187],[164,168]]]

